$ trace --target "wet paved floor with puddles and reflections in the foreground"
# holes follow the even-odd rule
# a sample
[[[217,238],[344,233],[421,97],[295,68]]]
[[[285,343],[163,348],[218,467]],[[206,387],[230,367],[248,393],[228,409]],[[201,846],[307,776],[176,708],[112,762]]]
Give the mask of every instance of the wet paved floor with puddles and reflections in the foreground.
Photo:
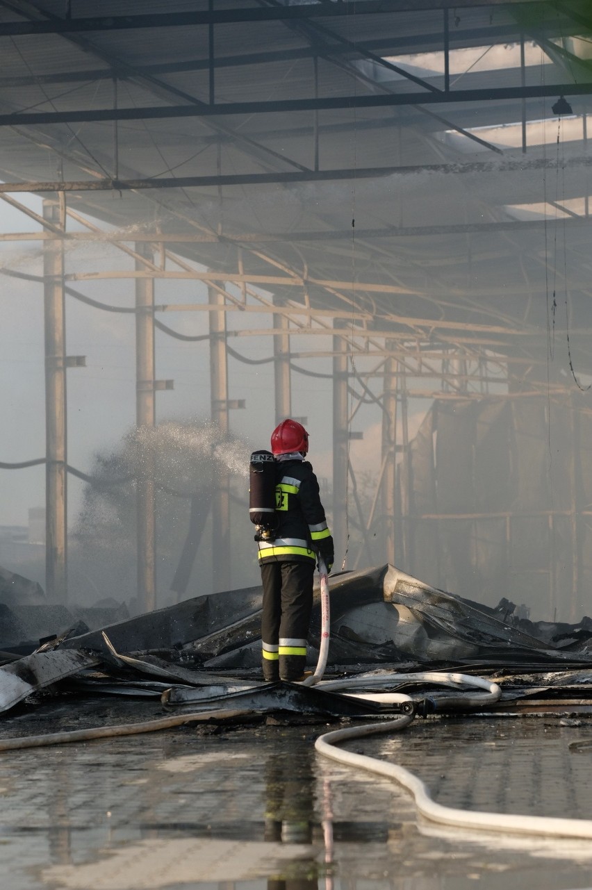
[[[138,700],[53,700],[0,737],[163,716]],[[170,711],[166,711],[170,714]],[[292,718],[293,720],[293,718]],[[577,725],[577,723],[580,725]],[[417,773],[469,809],[592,819],[592,723],[416,720],[345,747]],[[442,829],[390,781],[318,756],[339,724],[288,718],[0,754],[0,876],[10,890],[578,890],[592,841]]]

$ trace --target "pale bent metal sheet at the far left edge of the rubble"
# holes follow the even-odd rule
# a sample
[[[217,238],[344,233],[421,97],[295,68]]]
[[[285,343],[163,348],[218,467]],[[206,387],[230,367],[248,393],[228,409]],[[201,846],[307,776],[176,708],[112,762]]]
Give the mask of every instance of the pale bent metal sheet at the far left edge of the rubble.
[[[26,699],[31,692],[57,683],[85,667],[99,663],[96,655],[82,651],[33,652],[0,667],[0,712]]]

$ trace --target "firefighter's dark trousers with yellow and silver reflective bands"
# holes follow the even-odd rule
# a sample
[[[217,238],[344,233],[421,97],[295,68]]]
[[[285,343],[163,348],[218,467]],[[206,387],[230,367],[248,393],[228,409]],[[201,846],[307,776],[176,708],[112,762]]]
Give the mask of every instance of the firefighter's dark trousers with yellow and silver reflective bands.
[[[265,680],[299,680],[306,664],[315,563],[264,562],[261,619]]]

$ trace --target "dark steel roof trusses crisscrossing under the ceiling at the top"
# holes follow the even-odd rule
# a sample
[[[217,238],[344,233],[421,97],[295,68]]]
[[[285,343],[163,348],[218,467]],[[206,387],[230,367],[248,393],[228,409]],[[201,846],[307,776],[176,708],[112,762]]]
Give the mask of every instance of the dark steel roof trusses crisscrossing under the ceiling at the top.
[[[28,3],[27,0],[1,0],[0,5],[6,10],[17,14],[18,19],[14,21],[4,21],[0,23],[0,39],[4,37],[14,36],[33,36],[33,35],[55,35],[61,36],[64,40],[68,40],[71,44],[82,49],[85,53],[92,55],[94,58],[101,60],[106,68],[89,69],[88,72],[76,72],[71,75],[66,72],[63,75],[63,83],[69,83],[72,77],[75,80],[84,80],[86,76],[89,81],[95,79],[104,79],[109,77],[113,83],[112,101],[109,107],[100,109],[88,108],[70,108],[68,110],[51,111],[30,111],[22,109],[19,111],[7,112],[0,114],[0,126],[29,127],[35,126],[37,129],[45,125],[63,125],[82,122],[112,122],[114,130],[113,139],[113,175],[98,176],[98,170],[95,168],[92,172],[92,181],[76,180],[66,182],[6,182],[1,186],[2,190],[137,190],[137,189],[162,189],[162,188],[185,188],[207,187],[207,185],[237,185],[237,184],[262,184],[270,182],[324,182],[339,179],[351,179],[355,177],[373,177],[388,175],[398,172],[401,168],[396,166],[370,166],[358,168],[355,171],[349,168],[340,169],[322,169],[320,168],[320,136],[323,127],[319,125],[319,111],[328,111],[331,109],[388,109],[388,108],[404,108],[414,109],[418,116],[424,119],[429,117],[444,127],[456,130],[459,134],[463,134],[467,139],[482,145],[491,150],[491,152],[501,154],[499,147],[483,140],[482,137],[466,130],[459,124],[458,120],[449,120],[436,113],[434,110],[427,108],[429,105],[450,105],[451,112],[454,117],[462,116],[466,112],[461,108],[462,105],[471,103],[487,103],[490,107],[494,107],[492,103],[496,101],[504,101],[505,108],[512,108],[516,115],[515,119],[522,117],[523,128],[527,118],[527,101],[531,100],[536,103],[543,97],[553,97],[557,95],[563,96],[585,96],[592,92],[592,86],[588,82],[588,78],[584,78],[585,82],[574,83],[577,78],[572,78],[572,64],[579,64],[589,70],[589,62],[587,60],[578,59],[565,50],[562,46],[554,43],[550,38],[553,36],[566,36],[572,33],[580,33],[581,28],[589,28],[588,20],[581,20],[581,16],[577,12],[570,9],[559,8],[551,5],[549,10],[553,12],[545,20],[544,26],[534,23],[530,20],[526,26],[520,25],[520,16],[524,9],[536,9],[536,0],[512,0],[505,7],[511,8],[515,6],[516,23],[509,27],[507,24],[503,27],[493,27],[481,29],[476,33],[474,29],[455,28],[454,35],[450,33],[451,13],[460,6],[468,7],[490,6],[495,7],[498,0],[489,0],[483,3],[481,0],[471,0],[466,4],[452,4],[435,2],[435,0],[425,0],[425,3],[406,4],[400,3],[398,0],[364,0],[361,4],[352,3],[320,3],[320,4],[297,4],[285,5],[275,3],[274,0],[264,0],[264,5],[258,7],[245,7],[237,9],[224,9],[216,11],[209,9],[199,12],[171,12],[171,13],[150,13],[145,15],[126,15],[126,16],[109,16],[109,17],[91,17],[78,18],[67,15],[65,18],[54,15],[51,12],[39,9],[35,4]],[[431,51],[437,50],[444,56],[444,75],[442,85],[436,85],[429,78],[417,77],[409,70],[384,58],[380,54],[380,45],[376,40],[371,40],[368,44],[359,40],[352,40],[338,33],[335,28],[329,27],[331,21],[334,24],[338,20],[346,19],[355,20],[356,16],[362,19],[372,19],[377,16],[380,20],[389,21],[389,16],[396,17],[397,13],[416,11],[418,9],[426,9],[432,12],[442,14],[442,28],[439,33],[432,35],[422,35],[421,45],[424,49],[429,47]],[[454,13],[456,21],[456,13]],[[532,18],[532,17],[531,17]],[[535,17],[536,18],[536,17]],[[237,22],[254,22],[264,23],[265,21],[279,21],[285,27],[293,31],[296,36],[305,43],[309,44],[304,48],[299,47],[296,50],[294,58],[310,58],[312,61],[313,77],[311,83],[310,95],[297,99],[282,100],[264,100],[256,99],[255,101],[218,101],[216,98],[216,70],[228,67],[239,68],[241,65],[259,65],[264,66],[266,62],[272,62],[276,58],[273,53],[251,53],[248,55],[234,55],[228,58],[220,57],[216,53],[218,46],[218,36],[225,33],[224,29]],[[323,23],[324,22],[324,23]],[[142,68],[140,65],[130,65],[125,60],[118,58],[113,53],[106,52],[99,44],[93,42],[93,35],[101,36],[106,32],[112,33],[118,30],[134,31],[138,28],[197,28],[196,33],[207,33],[207,58],[196,59],[194,61],[185,61],[181,65],[164,65],[155,66],[150,69]],[[575,28],[575,32],[574,32]],[[199,30],[201,29],[201,30]],[[415,41],[412,38],[397,38],[397,47],[399,52],[409,51],[414,44],[417,44],[418,37]],[[522,45],[522,53],[524,50],[524,42],[527,39],[533,39],[544,45],[547,53],[551,53],[557,60],[564,64],[564,68],[569,73],[571,79],[564,83],[553,84],[528,84],[524,73],[524,59],[521,62],[521,84],[515,86],[497,86],[489,84],[485,88],[476,89],[458,89],[454,88],[450,79],[450,48],[451,45],[463,46],[474,45],[475,39],[483,39],[493,44],[504,44],[510,40],[519,40]],[[378,41],[378,44],[380,42]],[[387,47],[385,46],[385,49]],[[378,50],[378,52],[374,52]],[[279,61],[285,61],[291,58],[289,55],[280,54]],[[353,79],[355,90],[353,93],[345,95],[320,95],[319,69],[318,61],[323,60],[333,69],[345,72],[348,77]],[[390,71],[395,73],[404,80],[416,87],[412,92],[406,93],[393,89],[392,85],[384,84],[380,80],[369,77],[364,71],[356,65],[356,61],[368,61],[377,66],[377,69]],[[163,79],[167,73],[175,71],[191,71],[191,70],[207,70],[208,73],[208,90],[207,101],[192,93],[187,93],[179,88],[174,87]],[[134,107],[121,107],[118,98],[118,81],[125,80],[134,82],[142,86],[143,90],[148,90],[159,101],[153,105],[145,105],[140,102],[134,102]],[[48,75],[40,77],[4,77],[0,78],[0,86],[6,87],[14,85],[42,85],[59,83],[59,79]],[[162,104],[162,101],[166,104]],[[182,104],[179,103],[182,101]],[[49,100],[48,100],[49,101]],[[171,102],[176,104],[171,104]],[[508,105],[509,103],[509,105]],[[45,104],[43,102],[42,104]],[[53,103],[51,103],[53,104]],[[536,104],[531,108],[534,110]],[[240,133],[239,130],[232,129],[231,125],[223,123],[219,118],[250,116],[250,115],[292,115],[295,112],[311,112],[310,132],[313,145],[314,163],[312,168],[309,165],[302,164],[294,158],[290,158],[284,152],[272,150],[269,145],[249,137],[247,134]],[[165,179],[162,177],[142,177],[132,178],[129,176],[119,175],[118,160],[118,131],[117,125],[120,121],[148,121],[158,119],[172,118],[203,118],[203,125],[207,126],[215,138],[223,140],[235,141],[244,151],[246,157],[256,158],[259,162],[272,162],[272,170],[265,173],[239,172],[233,174],[225,174],[222,170],[217,170],[215,174],[172,177]],[[470,117],[470,111],[469,111]],[[285,118],[284,118],[285,119]],[[374,124],[376,125],[376,124]],[[525,135],[523,149],[525,150]],[[277,165],[289,166],[289,171],[278,170]],[[104,173],[104,170],[103,170]],[[63,177],[62,177],[63,179]]]

